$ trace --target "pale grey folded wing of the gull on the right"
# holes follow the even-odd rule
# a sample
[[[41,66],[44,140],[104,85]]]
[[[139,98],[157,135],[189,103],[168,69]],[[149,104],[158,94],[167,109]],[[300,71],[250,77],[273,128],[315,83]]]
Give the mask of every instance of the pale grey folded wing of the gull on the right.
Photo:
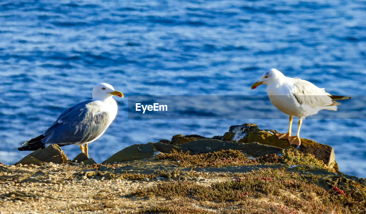
[[[330,94],[306,80],[294,78],[294,88],[291,93],[300,105],[309,105],[311,108],[339,105],[332,101]]]

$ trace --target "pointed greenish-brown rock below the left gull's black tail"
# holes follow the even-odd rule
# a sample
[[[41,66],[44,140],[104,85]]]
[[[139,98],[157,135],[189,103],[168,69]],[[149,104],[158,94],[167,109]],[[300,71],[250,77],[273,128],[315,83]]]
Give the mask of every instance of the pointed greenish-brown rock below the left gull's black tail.
[[[52,162],[54,164],[61,164],[64,161],[67,161],[67,156],[61,150],[59,145],[51,144],[44,149],[38,149],[33,153],[30,153],[20,161],[16,162],[17,164],[36,164],[41,165],[45,162]]]

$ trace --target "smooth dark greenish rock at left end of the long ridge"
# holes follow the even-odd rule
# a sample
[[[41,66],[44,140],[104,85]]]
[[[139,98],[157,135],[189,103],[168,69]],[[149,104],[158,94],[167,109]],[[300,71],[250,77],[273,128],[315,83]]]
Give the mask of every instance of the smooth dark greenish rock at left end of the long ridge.
[[[110,158],[103,161],[102,164],[149,158],[152,157],[157,151],[158,150],[155,149],[153,143],[134,144],[124,148],[116,154],[113,154]]]

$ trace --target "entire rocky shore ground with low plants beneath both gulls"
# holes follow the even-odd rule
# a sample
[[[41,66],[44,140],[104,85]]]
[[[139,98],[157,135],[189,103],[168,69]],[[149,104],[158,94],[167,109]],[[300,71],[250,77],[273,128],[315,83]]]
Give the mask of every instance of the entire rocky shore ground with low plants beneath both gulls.
[[[149,189],[150,192],[156,193],[152,197],[153,203],[157,203],[156,197],[172,199],[169,194],[175,191],[178,191],[176,194],[181,200],[184,196],[182,192],[186,191],[186,204],[195,202],[199,197],[202,199],[201,202],[217,204],[223,191],[226,191],[227,196],[221,198],[221,207],[235,208],[235,204],[240,204],[240,207],[236,208],[241,209],[244,203],[268,196],[265,200],[268,201],[269,207],[264,207],[267,205],[263,205],[263,200],[259,200],[259,213],[272,209],[273,204],[281,204],[278,209],[275,207],[279,212],[285,209],[284,206],[290,206],[293,213],[324,213],[334,209],[335,206],[339,206],[338,211],[346,209],[348,213],[365,212],[366,180],[339,172],[332,147],[302,139],[302,145],[294,148],[289,146],[288,140],[277,139],[276,133],[274,130],[261,130],[255,124],[243,124],[232,126],[223,136],[213,138],[200,135],[175,135],[170,141],[163,139],[157,143],[126,147],[103,161],[104,165],[96,164],[92,158],[87,158],[83,153],[72,161],[66,161],[67,157],[60,147],[51,145],[27,155],[17,162],[16,166],[0,165],[0,183],[6,185],[3,185],[4,189],[11,188],[6,190],[7,192],[3,191],[0,198],[4,203],[9,201],[9,204],[10,202],[15,204],[12,202],[14,200],[23,202],[29,200],[36,204],[42,197],[56,194],[55,199],[49,199],[62,198],[74,202],[75,195],[79,196],[88,189],[94,191],[103,187],[105,189],[100,188],[97,194],[89,192],[83,200],[90,202],[90,195],[94,195],[93,200],[104,201],[114,198],[113,200],[121,199],[119,203],[124,203],[133,191],[127,193],[123,188],[131,184],[131,189],[134,191],[138,189],[134,197],[146,196],[143,194],[144,188],[153,187]],[[171,180],[178,182],[169,183]],[[156,184],[145,185],[145,182]],[[49,185],[54,185],[48,188],[53,192],[36,194],[38,187]],[[74,194],[75,189],[61,192],[64,187],[74,188],[75,185],[80,185],[78,194]],[[158,185],[164,188],[156,188]],[[190,186],[192,189],[189,189]],[[29,190],[23,192],[27,187]],[[197,191],[198,188],[201,188],[200,191]],[[163,189],[167,191],[164,194],[159,192]],[[192,198],[192,192],[195,194],[201,192],[202,195]],[[64,197],[65,193],[69,195]],[[104,193],[108,196],[103,195]],[[109,197],[110,194],[116,195]],[[228,201],[227,197],[230,197],[230,203],[224,204]],[[146,198],[149,197],[145,197],[143,201]],[[139,199],[133,198],[132,203],[135,204],[136,200]],[[231,203],[231,200],[240,203]],[[289,201],[294,203],[288,203]],[[311,202],[310,205],[303,205],[308,201]],[[101,204],[89,202],[86,204]],[[196,204],[201,206],[203,204],[201,202]],[[115,201],[113,203],[118,204]],[[139,203],[143,203],[142,199]],[[149,203],[148,206],[153,203]],[[112,203],[102,204],[103,209],[113,206]],[[324,207],[326,208],[323,209]],[[320,210],[311,212],[315,208]],[[87,207],[85,210],[100,209],[101,207]],[[180,209],[181,207],[177,208],[182,211]],[[205,208],[201,211],[207,210]],[[193,213],[197,213],[197,210]]]

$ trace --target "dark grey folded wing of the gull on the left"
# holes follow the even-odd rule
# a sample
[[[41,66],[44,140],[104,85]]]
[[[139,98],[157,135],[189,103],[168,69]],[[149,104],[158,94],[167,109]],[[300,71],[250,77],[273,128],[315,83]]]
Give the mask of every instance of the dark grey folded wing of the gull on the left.
[[[96,102],[87,100],[68,108],[44,133],[41,142],[65,146],[89,142],[107,129],[109,113]]]

